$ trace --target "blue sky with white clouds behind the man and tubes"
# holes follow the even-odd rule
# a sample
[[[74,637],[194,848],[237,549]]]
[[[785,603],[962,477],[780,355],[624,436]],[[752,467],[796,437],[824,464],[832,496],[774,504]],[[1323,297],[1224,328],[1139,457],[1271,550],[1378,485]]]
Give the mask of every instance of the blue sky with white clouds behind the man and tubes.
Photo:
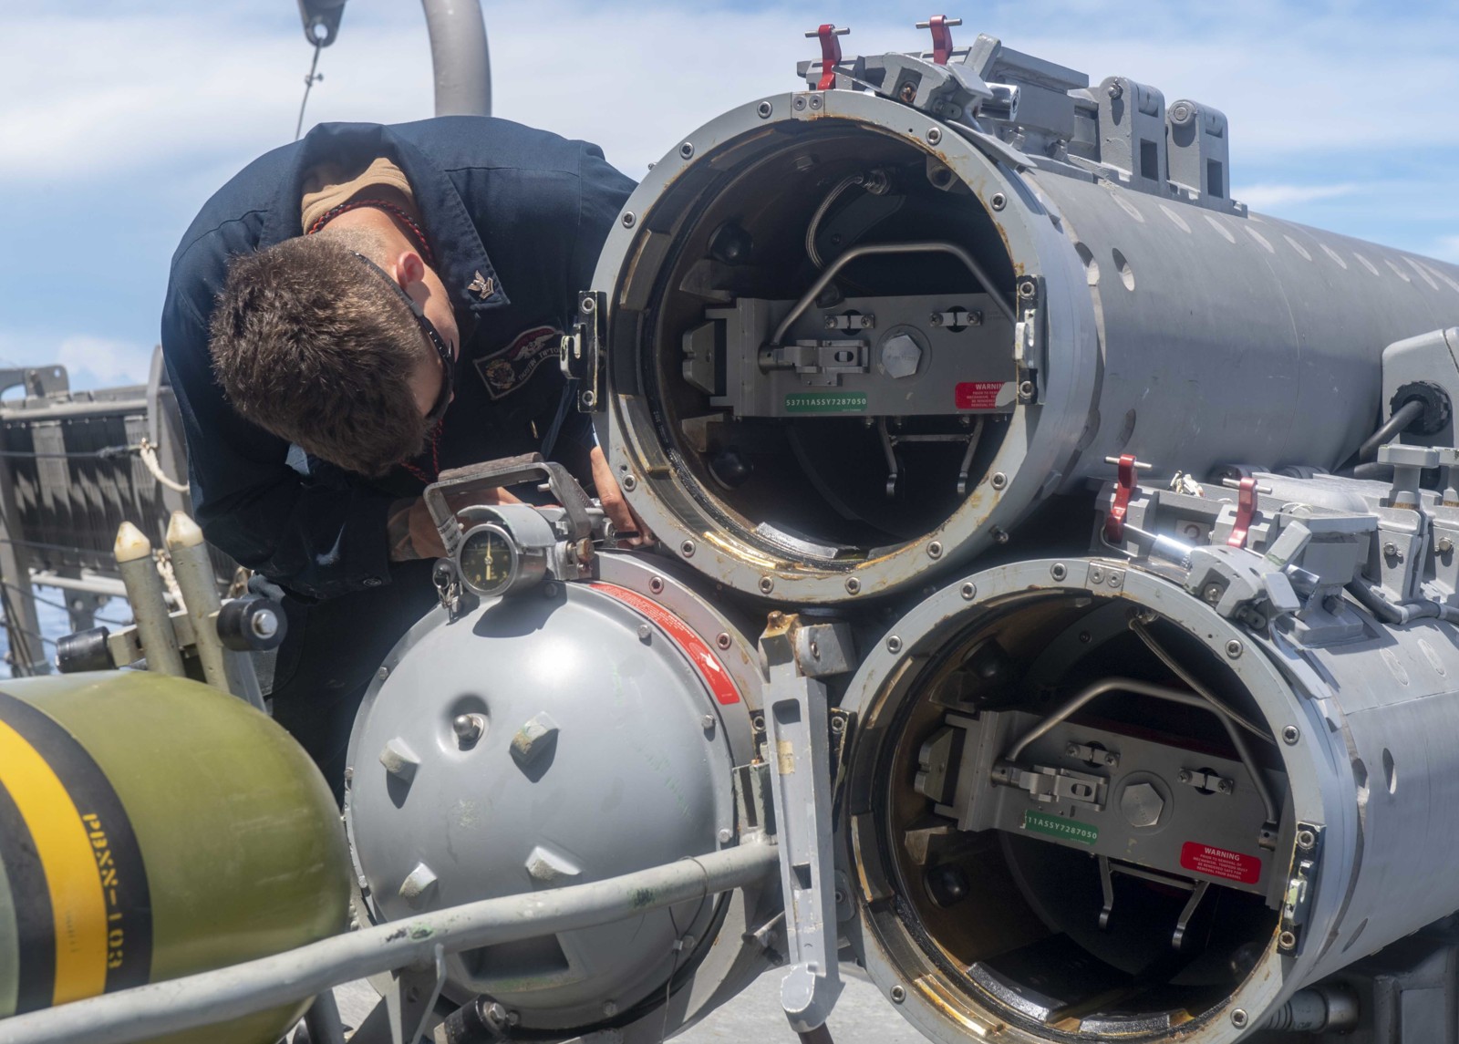
[[[0,15],[0,365],[79,386],[140,381],[168,260],[207,195],[293,134],[309,47],[293,0],[29,0]],[[1380,16],[1376,12],[1382,10]],[[718,112],[795,86],[801,32],[912,50],[922,4],[486,4],[498,115],[604,146],[639,176]],[[1256,210],[1459,261],[1459,6],[978,0],[945,13],[1231,121],[1231,188]],[[430,115],[414,0],[349,0],[306,124]]]

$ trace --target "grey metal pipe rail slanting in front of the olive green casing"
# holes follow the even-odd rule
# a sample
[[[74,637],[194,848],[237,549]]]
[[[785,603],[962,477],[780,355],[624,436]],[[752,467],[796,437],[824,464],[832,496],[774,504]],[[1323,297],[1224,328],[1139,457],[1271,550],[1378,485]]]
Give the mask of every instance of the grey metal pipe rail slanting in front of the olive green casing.
[[[16,1015],[0,1022],[0,1044],[130,1044],[228,1022],[340,983],[430,964],[438,952],[608,924],[751,885],[772,875],[776,859],[773,844],[743,841],[607,881],[465,903],[274,957]]]

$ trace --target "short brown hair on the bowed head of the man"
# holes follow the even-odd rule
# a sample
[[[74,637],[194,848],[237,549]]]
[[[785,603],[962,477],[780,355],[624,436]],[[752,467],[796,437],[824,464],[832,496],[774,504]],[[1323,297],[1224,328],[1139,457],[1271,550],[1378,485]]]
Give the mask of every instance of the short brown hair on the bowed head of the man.
[[[233,258],[213,309],[213,372],[248,420],[375,477],[425,443],[410,378],[435,356],[355,251],[376,254],[376,241],[321,232]]]

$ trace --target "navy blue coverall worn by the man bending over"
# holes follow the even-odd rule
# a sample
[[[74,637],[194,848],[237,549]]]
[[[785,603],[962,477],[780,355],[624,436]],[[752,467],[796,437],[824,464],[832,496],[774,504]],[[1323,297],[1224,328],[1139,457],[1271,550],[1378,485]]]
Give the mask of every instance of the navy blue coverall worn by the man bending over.
[[[430,607],[429,561],[391,563],[385,515],[425,484],[379,480],[305,456],[244,420],[213,376],[209,316],[229,258],[301,235],[308,172],[391,159],[410,181],[436,273],[455,308],[455,401],[432,451],[444,468],[543,448],[589,478],[591,430],[565,407],[557,343],[591,284],[633,182],[597,146],[505,120],[322,124],[217,191],[172,258],[162,351],[182,411],[193,507],[207,539],[285,588],[289,634],[274,717],[338,790],[356,706],[375,668]],[[557,430],[560,424],[560,430]]]

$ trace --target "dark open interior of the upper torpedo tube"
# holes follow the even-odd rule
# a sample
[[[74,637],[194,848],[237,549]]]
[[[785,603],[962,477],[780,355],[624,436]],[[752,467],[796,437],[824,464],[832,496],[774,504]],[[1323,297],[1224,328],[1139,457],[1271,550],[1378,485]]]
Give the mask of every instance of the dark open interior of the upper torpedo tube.
[[[1017,407],[1014,264],[934,153],[845,120],[767,128],[690,165],[646,225],[616,385],[706,522],[849,566],[963,505]]]

